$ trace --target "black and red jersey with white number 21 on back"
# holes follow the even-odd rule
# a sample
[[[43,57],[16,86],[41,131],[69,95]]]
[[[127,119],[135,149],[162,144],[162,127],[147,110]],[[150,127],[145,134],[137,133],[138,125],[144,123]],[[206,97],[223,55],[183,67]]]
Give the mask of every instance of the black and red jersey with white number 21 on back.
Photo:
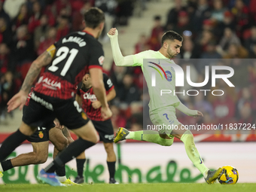
[[[35,86],[35,92],[59,99],[75,96],[76,87],[91,68],[102,69],[102,44],[88,32],[72,32],[57,41],[53,60]]]

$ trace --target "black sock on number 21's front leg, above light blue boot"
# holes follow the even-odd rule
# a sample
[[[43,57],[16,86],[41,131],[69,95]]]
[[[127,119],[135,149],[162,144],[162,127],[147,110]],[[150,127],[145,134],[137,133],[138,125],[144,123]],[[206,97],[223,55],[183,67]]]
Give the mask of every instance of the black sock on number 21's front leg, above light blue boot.
[[[84,139],[77,139],[75,142],[72,142],[66,149],[64,149],[54,160],[47,166],[44,171],[45,172],[55,172],[57,168],[64,166],[65,163],[69,162],[69,160],[78,157],[81,152],[95,145],[93,142],[88,142]]]

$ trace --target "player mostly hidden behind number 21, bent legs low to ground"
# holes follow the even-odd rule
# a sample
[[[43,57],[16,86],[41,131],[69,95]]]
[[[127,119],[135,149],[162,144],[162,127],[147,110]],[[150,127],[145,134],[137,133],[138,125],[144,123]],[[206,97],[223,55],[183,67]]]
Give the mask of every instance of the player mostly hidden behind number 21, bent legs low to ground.
[[[33,90],[34,87],[31,88],[31,92],[26,99],[26,105],[23,106],[23,110],[26,110],[26,107],[29,105]],[[9,169],[16,166],[45,163],[48,158],[49,141],[54,145],[53,159],[60,151],[64,150],[69,143],[74,142],[70,136],[69,130],[66,126],[61,126],[57,119],[55,119],[54,123],[49,127],[38,126],[32,136],[27,140],[31,142],[33,151],[2,161],[0,163],[0,177],[3,175],[3,172],[7,172]],[[62,184],[66,184],[67,186],[76,184],[69,178],[66,178],[65,166],[56,169],[56,175]]]

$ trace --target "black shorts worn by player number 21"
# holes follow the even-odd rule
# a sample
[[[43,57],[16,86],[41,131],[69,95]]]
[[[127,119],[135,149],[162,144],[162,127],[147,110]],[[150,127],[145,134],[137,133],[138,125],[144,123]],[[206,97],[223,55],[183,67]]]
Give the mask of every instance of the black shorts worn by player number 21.
[[[29,104],[23,110],[23,122],[29,126],[49,129],[55,118],[69,130],[78,129],[90,120],[74,98],[54,99],[33,92]]]

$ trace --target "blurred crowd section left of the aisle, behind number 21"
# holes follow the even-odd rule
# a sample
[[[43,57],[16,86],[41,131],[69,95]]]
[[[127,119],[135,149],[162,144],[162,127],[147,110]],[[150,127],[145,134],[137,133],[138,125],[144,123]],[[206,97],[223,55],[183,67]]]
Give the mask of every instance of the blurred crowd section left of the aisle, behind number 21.
[[[69,32],[84,29],[85,11],[96,6],[114,18],[112,26],[126,26],[135,4],[130,0],[0,0],[0,123],[32,61]]]

